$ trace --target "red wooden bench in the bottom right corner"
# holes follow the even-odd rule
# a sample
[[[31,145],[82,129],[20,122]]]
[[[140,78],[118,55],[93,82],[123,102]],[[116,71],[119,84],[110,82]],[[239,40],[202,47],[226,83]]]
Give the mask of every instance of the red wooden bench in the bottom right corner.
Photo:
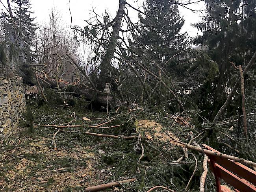
[[[217,150],[203,144],[207,150]],[[217,192],[230,192],[230,189],[221,185],[220,178],[233,186],[236,192],[256,192],[256,171],[247,166],[221,157],[208,155],[208,165],[216,181]]]

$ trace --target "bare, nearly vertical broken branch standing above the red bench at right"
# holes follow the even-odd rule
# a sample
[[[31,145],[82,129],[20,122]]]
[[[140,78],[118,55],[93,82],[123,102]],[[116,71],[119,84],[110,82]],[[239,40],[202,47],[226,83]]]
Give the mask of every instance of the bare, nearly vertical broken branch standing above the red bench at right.
[[[241,95],[242,95],[242,110],[243,110],[243,132],[245,137],[247,138],[247,119],[246,119],[246,111],[245,111],[245,81],[243,78],[243,70],[242,66],[239,65],[240,72],[240,81],[241,81]]]

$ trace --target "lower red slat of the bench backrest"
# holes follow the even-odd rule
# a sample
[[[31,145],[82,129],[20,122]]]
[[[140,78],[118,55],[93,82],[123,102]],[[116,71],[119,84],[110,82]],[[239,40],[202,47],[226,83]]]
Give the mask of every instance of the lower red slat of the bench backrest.
[[[208,164],[210,166],[211,171],[213,172],[210,159],[208,160]],[[215,164],[215,172],[217,173],[218,177],[222,178],[224,181],[232,185],[234,188],[238,189],[241,192],[256,192],[256,186],[250,184],[249,182],[243,179],[240,179],[239,177],[232,174],[230,171],[226,170],[216,162]]]

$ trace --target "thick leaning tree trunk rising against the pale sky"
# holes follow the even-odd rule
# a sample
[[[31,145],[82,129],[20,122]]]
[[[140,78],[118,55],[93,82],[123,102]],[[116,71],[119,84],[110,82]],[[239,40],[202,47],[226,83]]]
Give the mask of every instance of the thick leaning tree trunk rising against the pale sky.
[[[106,54],[104,59],[100,65],[100,76],[98,79],[97,89],[103,90],[105,87],[105,83],[110,75],[110,63],[114,56],[115,47],[117,45],[117,40],[119,36],[119,31],[121,29],[121,22],[124,15],[124,8],[125,8],[126,0],[119,0],[119,9],[117,11],[117,15],[115,17],[115,24],[113,26],[113,31],[109,40],[109,45],[106,50]]]

